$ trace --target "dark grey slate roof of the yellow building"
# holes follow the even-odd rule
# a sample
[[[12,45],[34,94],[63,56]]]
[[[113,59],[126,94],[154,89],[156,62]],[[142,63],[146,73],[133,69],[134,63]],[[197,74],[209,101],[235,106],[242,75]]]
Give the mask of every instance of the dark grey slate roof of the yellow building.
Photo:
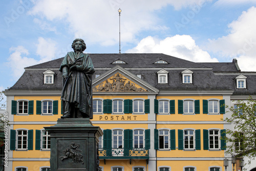
[[[234,94],[256,93],[256,73],[238,71],[236,63],[233,62],[191,62],[177,57],[165,54],[90,54],[95,74],[103,74],[110,68],[117,65],[124,69],[133,68],[129,72],[141,74],[141,79],[151,84],[160,91],[175,90],[233,90]],[[58,58],[48,62],[25,68],[26,71],[19,80],[9,90],[61,90],[62,76],[57,70],[63,58]],[[125,63],[113,64],[116,60],[122,60]],[[164,60],[168,63],[155,63],[158,60]],[[166,69],[168,73],[168,83],[158,84],[157,69]],[[193,71],[193,83],[182,84],[182,74],[186,68]],[[39,69],[39,70],[38,70]],[[48,69],[54,74],[54,84],[44,84],[44,74]],[[100,70],[97,70],[100,69]],[[105,70],[104,70],[105,69]],[[144,70],[143,70],[144,69]],[[184,69],[184,70],[183,70]],[[220,75],[216,73],[233,73],[233,75]],[[253,72],[251,72],[253,73]],[[250,74],[251,74],[250,73]],[[236,89],[235,78],[244,74],[248,89]],[[95,78],[95,76],[93,76]]]

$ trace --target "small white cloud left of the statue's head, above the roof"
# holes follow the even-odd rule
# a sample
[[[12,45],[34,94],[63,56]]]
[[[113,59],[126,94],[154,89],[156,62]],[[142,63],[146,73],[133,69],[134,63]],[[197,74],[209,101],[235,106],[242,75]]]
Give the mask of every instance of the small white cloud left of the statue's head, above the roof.
[[[8,66],[10,66],[12,74],[15,78],[19,78],[24,73],[24,68],[36,65],[37,63],[53,60],[55,54],[55,42],[51,39],[38,38],[36,53],[40,56],[40,60],[27,57],[29,51],[23,46],[11,47],[9,49],[11,55],[8,58]]]

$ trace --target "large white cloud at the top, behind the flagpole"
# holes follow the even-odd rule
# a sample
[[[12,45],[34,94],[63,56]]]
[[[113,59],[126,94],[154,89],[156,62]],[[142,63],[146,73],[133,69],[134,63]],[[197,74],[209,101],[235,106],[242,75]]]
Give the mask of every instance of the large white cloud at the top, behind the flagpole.
[[[122,42],[133,42],[135,36],[143,30],[166,30],[154,14],[167,5],[176,10],[191,5],[201,5],[212,0],[96,0],[96,1],[37,1],[31,15],[41,16],[47,20],[60,21],[68,24],[74,37],[80,37],[90,43],[103,46],[114,45],[118,42],[119,18],[121,12]]]

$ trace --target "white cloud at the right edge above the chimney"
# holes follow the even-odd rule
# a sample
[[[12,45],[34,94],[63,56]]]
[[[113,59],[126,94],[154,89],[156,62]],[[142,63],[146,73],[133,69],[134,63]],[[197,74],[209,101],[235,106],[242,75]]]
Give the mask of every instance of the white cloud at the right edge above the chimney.
[[[256,8],[244,11],[237,20],[228,25],[229,34],[209,39],[208,50],[221,56],[238,58],[243,71],[255,70],[256,60]],[[251,63],[250,67],[248,63]]]

